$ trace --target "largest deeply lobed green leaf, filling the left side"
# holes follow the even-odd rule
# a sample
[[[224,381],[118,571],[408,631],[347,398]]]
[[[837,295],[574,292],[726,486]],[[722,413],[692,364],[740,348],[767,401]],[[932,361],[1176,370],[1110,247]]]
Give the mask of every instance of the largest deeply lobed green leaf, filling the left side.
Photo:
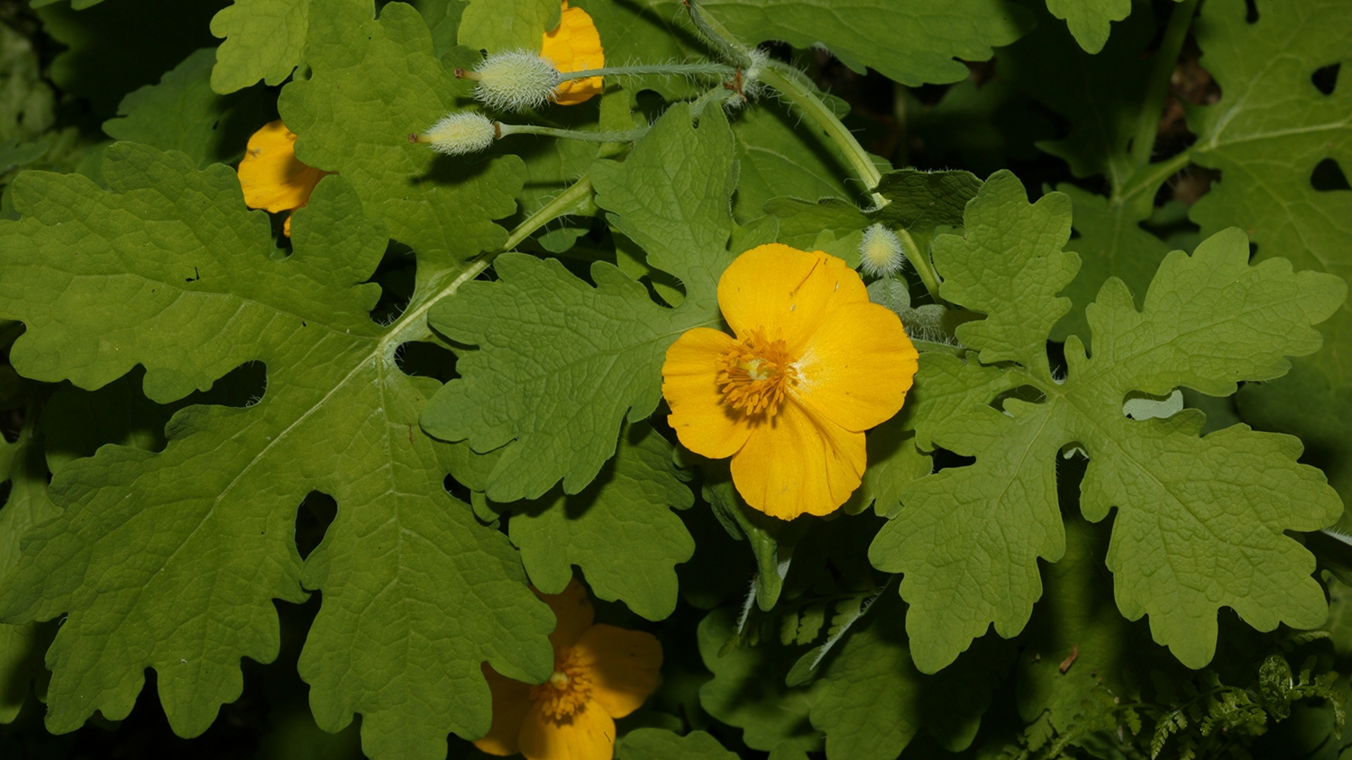
[[[15,367],[99,387],[142,364],[146,394],[172,401],[262,362],[266,390],[183,409],[162,452],[105,445],[57,472],[64,512],[26,536],[0,593],[7,622],[68,613],[49,729],[96,709],[120,720],[154,667],[173,729],[201,733],[239,697],[239,659],[276,656],[273,599],[307,587],[323,606],[299,667],[322,728],[361,713],[377,759],[443,757],[448,732],[481,736],[480,663],[542,680],[553,621],[507,537],[442,487],[438,444],[416,427],[437,381],[396,364],[427,337],[426,304],[454,288],[373,323],[379,286],[362,282],[387,238],[343,177],[319,184],[279,259],[228,167],[119,143],[103,174],[111,192],[73,174],[16,181],[24,217],[0,223],[0,313],[28,327]],[[301,563],[296,506],[312,490],[339,514]]]

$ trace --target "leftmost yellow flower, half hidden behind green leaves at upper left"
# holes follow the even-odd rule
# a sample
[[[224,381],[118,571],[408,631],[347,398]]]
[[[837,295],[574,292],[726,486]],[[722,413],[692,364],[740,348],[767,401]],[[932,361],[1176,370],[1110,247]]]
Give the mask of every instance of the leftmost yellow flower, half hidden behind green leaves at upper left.
[[[238,170],[245,205],[273,213],[304,208],[319,180],[331,174],[296,159],[296,136],[277,119],[249,138]],[[291,216],[283,231],[291,236]]]

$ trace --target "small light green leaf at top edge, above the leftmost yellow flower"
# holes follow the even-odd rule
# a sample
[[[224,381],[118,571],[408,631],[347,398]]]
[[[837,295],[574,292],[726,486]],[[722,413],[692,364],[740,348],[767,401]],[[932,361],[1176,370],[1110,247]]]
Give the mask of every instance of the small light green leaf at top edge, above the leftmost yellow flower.
[[[228,94],[258,80],[280,85],[300,65],[308,31],[310,0],[234,0],[211,19],[211,34],[224,39],[211,89]]]

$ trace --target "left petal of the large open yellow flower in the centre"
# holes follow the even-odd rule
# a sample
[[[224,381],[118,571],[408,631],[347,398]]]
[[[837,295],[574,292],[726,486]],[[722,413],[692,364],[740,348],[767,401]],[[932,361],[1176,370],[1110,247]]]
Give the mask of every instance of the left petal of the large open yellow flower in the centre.
[[[672,343],[662,363],[662,396],[672,408],[667,421],[685,448],[711,459],[731,456],[752,432],[718,389],[718,358],[735,343],[727,333],[696,327]]]

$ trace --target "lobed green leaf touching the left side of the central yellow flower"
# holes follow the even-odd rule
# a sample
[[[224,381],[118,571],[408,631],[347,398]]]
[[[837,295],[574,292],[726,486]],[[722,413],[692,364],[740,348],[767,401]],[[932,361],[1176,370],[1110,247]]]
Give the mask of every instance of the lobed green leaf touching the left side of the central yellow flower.
[[[498,282],[468,282],[431,309],[465,354],[460,379],[422,414],[433,436],[499,447],[488,477],[493,501],[538,498],[560,478],[583,490],[615,452],[622,421],[642,420],[661,398],[661,364],[681,332],[717,325],[717,282],[730,255],[731,131],[721,111],[696,130],[673,105],[623,163],[599,161],[596,204],[648,252],[648,263],[685,285],[676,309],[658,306],[618,267],[596,262],[592,285],[557,259],[503,254]]]

